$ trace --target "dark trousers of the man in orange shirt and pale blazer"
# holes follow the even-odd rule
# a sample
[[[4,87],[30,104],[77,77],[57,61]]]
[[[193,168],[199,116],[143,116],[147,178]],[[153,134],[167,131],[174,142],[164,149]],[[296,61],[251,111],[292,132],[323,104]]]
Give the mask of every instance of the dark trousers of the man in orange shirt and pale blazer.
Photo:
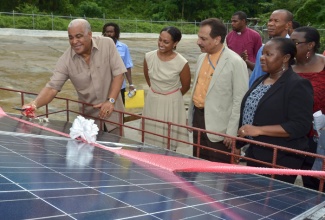
[[[193,127],[205,129],[204,109],[199,109],[195,107],[194,115],[193,115]],[[195,144],[198,143],[198,132],[195,130],[193,131],[193,142]],[[200,148],[200,154],[198,156],[199,158],[209,160],[209,161],[215,161],[215,162],[230,163],[231,157],[229,155],[226,155],[226,152],[231,152],[231,149],[226,147],[223,144],[223,141],[211,142],[207,134],[201,132],[200,145],[210,147],[213,149],[222,150],[225,152],[225,154]],[[197,157],[197,151],[198,148],[196,146],[193,146],[194,157]]]

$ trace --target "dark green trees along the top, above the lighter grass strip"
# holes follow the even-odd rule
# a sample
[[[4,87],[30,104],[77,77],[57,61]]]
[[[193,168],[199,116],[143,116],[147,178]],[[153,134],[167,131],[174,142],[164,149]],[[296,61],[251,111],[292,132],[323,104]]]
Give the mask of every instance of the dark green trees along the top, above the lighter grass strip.
[[[241,10],[265,23],[272,11],[285,8],[302,25],[324,28],[324,5],[325,0],[2,0],[0,11],[193,22],[208,17],[230,20]]]

